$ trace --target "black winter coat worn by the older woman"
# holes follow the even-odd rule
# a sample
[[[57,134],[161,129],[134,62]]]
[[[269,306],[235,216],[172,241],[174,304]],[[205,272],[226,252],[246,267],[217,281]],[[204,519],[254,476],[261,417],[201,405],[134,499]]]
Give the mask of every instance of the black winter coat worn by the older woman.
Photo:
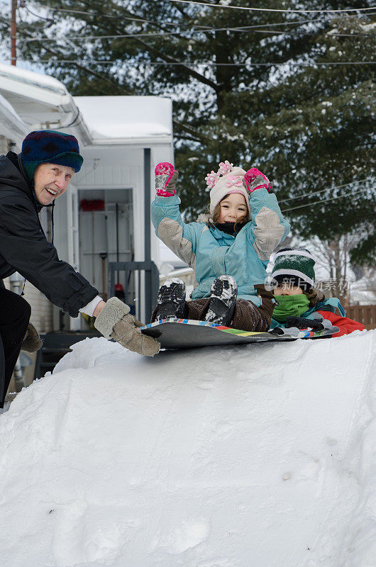
[[[77,317],[98,291],[59,259],[40,225],[41,209],[21,157],[13,152],[0,156],[0,280],[18,271],[52,303]]]

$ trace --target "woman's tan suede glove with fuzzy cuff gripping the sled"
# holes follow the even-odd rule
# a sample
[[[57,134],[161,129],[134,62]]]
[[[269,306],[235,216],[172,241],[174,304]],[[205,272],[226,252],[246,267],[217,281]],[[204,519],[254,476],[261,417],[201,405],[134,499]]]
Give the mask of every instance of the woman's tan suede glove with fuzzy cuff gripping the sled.
[[[122,347],[138,354],[154,357],[159,352],[159,342],[142,334],[139,327],[143,327],[143,323],[134,318],[129,313],[129,306],[117,297],[111,297],[106,302],[94,322],[94,327],[106,339],[114,339]]]

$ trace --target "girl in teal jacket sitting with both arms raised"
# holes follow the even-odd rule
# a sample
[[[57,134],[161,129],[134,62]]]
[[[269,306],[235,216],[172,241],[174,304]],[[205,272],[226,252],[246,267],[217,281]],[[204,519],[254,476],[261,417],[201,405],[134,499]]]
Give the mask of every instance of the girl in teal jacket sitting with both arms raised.
[[[273,297],[265,289],[270,254],[289,232],[270,183],[258,169],[248,172],[221,162],[206,176],[209,215],[184,223],[175,196],[172,164],[155,168],[157,196],[151,206],[155,233],[195,271],[192,301],[184,282],[160,288],[153,319],[177,316],[243,330],[267,330]]]

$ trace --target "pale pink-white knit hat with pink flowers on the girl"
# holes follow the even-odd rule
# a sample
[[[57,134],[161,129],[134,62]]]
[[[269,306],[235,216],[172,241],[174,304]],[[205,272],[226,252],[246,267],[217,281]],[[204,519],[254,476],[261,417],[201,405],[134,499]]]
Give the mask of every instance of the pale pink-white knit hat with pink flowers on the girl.
[[[240,193],[245,198],[245,203],[250,212],[249,192],[243,184],[245,176],[244,169],[241,167],[233,167],[226,159],[225,162],[219,164],[218,172],[210,172],[206,175],[206,185],[211,188],[210,191],[210,214],[214,213],[214,209],[223,197],[230,193]]]

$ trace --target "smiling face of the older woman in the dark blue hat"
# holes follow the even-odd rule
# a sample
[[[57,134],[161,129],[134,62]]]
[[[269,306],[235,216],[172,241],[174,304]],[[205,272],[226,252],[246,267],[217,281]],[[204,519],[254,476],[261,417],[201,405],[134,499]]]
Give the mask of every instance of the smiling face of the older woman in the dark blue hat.
[[[66,165],[39,164],[34,174],[35,196],[41,205],[50,205],[65,192],[74,175]]]

